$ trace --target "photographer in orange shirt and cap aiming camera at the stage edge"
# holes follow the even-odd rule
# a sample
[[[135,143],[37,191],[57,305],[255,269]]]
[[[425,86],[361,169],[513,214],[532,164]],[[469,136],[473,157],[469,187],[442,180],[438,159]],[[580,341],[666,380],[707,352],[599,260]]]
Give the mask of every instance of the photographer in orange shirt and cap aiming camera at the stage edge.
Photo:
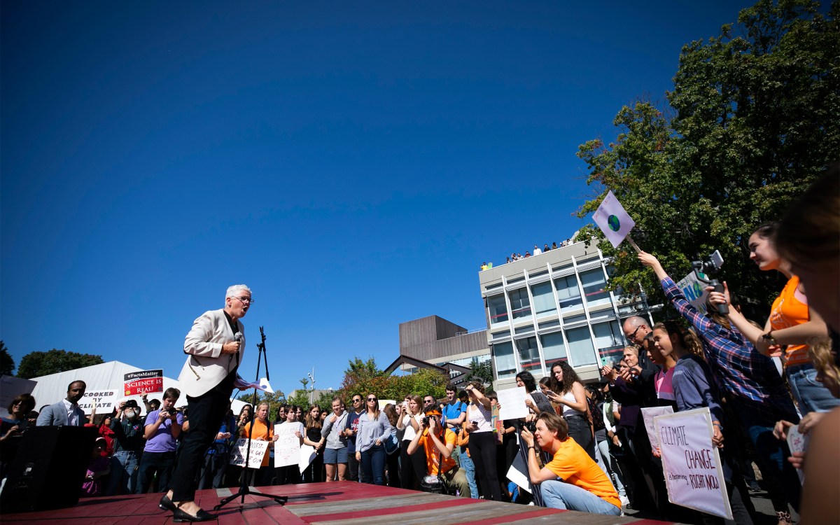
[[[429,408],[423,417],[423,432],[418,432],[408,444],[408,454],[414,454],[423,447],[426,454],[426,473],[423,491],[454,494],[470,497],[470,484],[464,470],[459,469],[452,459],[455,449],[455,433],[440,423],[440,410]]]

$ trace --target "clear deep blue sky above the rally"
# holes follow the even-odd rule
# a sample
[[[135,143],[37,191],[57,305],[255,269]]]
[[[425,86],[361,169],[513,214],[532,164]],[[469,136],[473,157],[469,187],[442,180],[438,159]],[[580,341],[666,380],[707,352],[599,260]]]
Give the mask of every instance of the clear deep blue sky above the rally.
[[[177,376],[245,283],[288,392],[484,328],[480,263],[579,228],[578,145],[749,4],[4,2],[0,338]]]

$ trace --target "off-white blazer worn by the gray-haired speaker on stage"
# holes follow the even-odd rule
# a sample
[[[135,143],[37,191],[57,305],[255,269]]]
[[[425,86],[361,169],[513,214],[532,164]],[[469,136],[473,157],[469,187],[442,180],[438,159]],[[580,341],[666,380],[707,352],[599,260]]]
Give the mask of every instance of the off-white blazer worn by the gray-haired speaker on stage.
[[[204,312],[192,323],[190,333],[184,340],[186,363],[178,375],[181,392],[190,397],[201,396],[217,386],[241,363],[245,354],[245,327],[236,320],[239,332],[243,334],[239,345],[239,361],[236,354],[222,354],[222,346],[234,340],[224,310]]]

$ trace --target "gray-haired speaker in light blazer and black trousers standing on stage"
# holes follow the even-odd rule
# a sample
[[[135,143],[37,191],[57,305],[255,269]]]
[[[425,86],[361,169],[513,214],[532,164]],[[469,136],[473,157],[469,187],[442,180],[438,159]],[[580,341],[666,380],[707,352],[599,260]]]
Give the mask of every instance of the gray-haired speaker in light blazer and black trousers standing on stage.
[[[186,363],[178,381],[189,405],[190,430],[172,474],[171,490],[160,498],[160,508],[170,510],[176,522],[204,522],[215,517],[195,502],[195,479],[204,453],[213,443],[230,406],[234,387],[245,388],[236,370],[242,362],[244,318],[254,300],[248,286],[234,285],[224,296],[224,308],[204,312],[186,334]]]

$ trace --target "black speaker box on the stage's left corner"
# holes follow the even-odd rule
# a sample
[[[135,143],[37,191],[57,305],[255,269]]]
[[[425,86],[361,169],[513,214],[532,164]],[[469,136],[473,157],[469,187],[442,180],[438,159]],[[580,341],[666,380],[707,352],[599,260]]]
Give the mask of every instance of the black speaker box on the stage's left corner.
[[[29,427],[8,469],[0,510],[44,511],[79,502],[90,464],[95,427]]]

